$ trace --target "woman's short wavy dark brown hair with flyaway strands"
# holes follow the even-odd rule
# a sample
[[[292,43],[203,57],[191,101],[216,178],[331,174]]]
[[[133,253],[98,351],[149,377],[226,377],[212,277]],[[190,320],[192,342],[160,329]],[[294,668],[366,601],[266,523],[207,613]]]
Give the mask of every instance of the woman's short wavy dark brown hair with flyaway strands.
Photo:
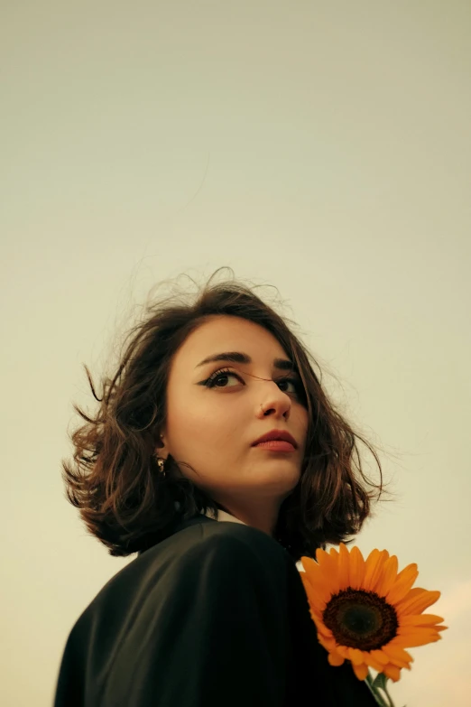
[[[315,557],[317,548],[348,542],[348,536],[360,530],[371,513],[371,501],[383,492],[380,461],[372,445],[354,432],[328,399],[309,359],[318,364],[292,333],[295,323],[263,302],[254,293],[256,285],[234,280],[211,284],[213,277],[192,300],[177,294],[147,307],[144,321],[125,338],[132,336],[113,379],[103,379],[102,397],[84,364],[100,405],[91,417],[73,405],[86,423],[69,434],[73,463],[61,460],[67,498],[79,508],[88,532],[114,556],[142,553],[171,535],[182,520],[225,509],[183,477],[171,455],[162,474],[155,451],[166,420],[173,356],[208,317],[242,317],[280,342],[304,387],[302,404],[309,411],[305,457],[300,481],[282,502],[273,537],[295,562],[302,555]],[[363,473],[356,440],[372,451],[379,484]]]

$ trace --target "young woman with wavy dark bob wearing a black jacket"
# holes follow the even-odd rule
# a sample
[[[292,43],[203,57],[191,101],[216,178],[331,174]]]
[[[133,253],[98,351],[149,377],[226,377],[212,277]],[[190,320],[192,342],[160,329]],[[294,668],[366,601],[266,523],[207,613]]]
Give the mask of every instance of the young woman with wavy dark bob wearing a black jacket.
[[[109,554],[138,556],[72,628],[55,707],[374,705],[328,664],[299,574],[381,492],[354,470],[365,440],[285,319],[211,279],[150,308],[101,398],[86,367],[100,406],[76,407],[68,498]]]

